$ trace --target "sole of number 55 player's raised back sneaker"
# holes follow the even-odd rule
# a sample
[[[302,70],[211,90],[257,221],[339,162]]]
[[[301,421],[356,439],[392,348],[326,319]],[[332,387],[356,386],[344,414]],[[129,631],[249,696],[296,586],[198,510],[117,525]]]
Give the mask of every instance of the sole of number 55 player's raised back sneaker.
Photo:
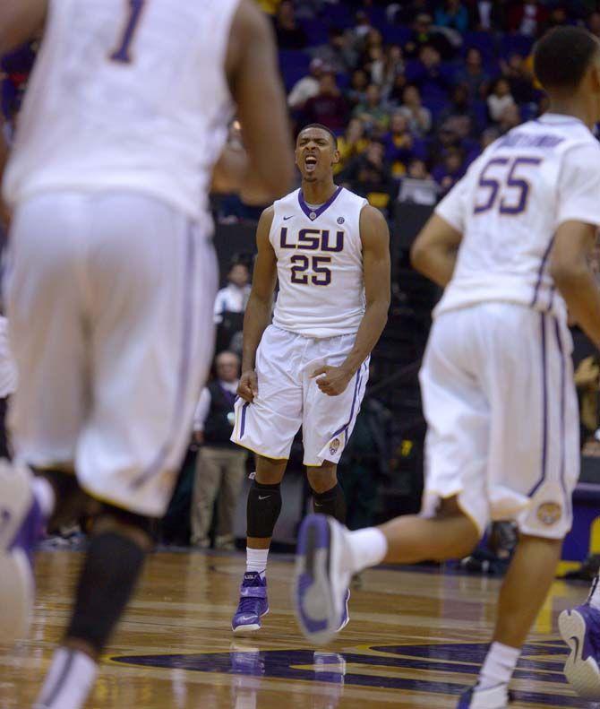
[[[331,528],[322,514],[306,517],[298,532],[294,604],[304,637],[326,644],[338,632],[340,612],[330,584]]]

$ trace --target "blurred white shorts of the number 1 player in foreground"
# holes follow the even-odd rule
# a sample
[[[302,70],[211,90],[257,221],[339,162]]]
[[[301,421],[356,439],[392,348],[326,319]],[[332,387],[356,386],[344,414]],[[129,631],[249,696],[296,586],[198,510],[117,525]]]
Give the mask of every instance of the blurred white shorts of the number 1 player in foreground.
[[[165,513],[213,350],[210,240],[128,192],[47,193],[14,214],[5,295],[17,457]]]

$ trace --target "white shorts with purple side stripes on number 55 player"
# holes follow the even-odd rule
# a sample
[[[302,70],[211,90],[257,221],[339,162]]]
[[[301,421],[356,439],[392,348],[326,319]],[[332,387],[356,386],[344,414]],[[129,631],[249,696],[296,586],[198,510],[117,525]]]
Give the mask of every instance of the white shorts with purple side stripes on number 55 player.
[[[571,350],[566,324],[509,303],[435,320],[420,374],[423,514],[458,496],[482,533],[491,520],[551,539],[570,530],[579,478]]]

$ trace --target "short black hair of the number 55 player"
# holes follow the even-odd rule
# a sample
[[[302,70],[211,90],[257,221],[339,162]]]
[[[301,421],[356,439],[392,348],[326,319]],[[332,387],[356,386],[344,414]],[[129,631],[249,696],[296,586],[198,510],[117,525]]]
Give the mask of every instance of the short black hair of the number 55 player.
[[[600,50],[594,35],[581,27],[557,27],[534,48],[534,73],[544,89],[577,89]]]

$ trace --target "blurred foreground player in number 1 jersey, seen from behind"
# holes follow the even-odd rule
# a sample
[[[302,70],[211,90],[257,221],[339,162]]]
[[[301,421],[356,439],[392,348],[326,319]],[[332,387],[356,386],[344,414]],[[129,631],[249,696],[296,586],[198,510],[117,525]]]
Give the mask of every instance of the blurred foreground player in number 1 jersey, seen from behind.
[[[166,510],[210,364],[208,192],[292,177],[268,22],[249,0],[3,0],[0,55],[44,26],[4,198],[20,464],[0,465],[0,635],[22,636],[42,520],[94,518],[39,709],[79,709]],[[39,476],[31,478],[30,468]],[[74,473],[74,474],[73,474]]]

